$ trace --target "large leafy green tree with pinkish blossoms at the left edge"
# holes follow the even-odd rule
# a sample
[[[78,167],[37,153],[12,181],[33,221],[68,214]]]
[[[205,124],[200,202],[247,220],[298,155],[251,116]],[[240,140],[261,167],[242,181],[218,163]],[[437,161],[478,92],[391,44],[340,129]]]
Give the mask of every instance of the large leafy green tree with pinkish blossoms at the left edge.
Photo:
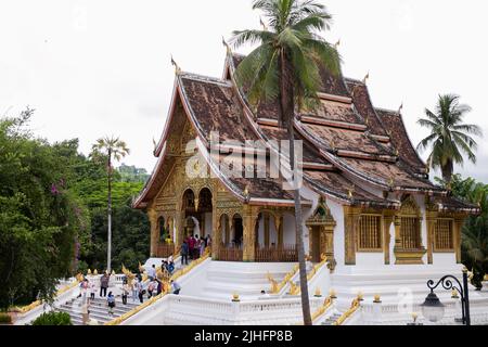
[[[0,120],[0,307],[48,301],[74,271],[75,245],[89,232],[72,192],[67,143],[50,145],[25,130],[33,111]]]

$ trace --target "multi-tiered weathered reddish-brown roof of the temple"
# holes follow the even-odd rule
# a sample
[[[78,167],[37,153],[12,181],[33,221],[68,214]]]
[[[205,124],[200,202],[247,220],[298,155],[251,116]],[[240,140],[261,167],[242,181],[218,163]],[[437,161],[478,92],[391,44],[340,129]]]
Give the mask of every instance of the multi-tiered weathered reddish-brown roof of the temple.
[[[175,117],[184,111],[207,151],[208,164],[235,197],[252,204],[292,204],[292,194],[275,179],[232,178],[215,165],[210,132],[220,140],[286,140],[279,127],[278,105],[249,105],[245,90],[237,87],[234,72],[244,56],[228,52],[221,79],[177,72],[171,111],[154,154],[156,168],[134,206],[142,208],[164,184],[174,158],[166,155],[169,134],[181,124]],[[393,194],[425,193],[439,210],[475,211],[476,207],[449,197],[448,191],[428,180],[425,163],[410,141],[400,112],[374,107],[364,82],[321,72],[321,104],[295,117],[295,138],[304,141],[304,181],[317,193],[341,204],[398,208]],[[202,149],[201,149],[202,151]],[[358,183],[359,182],[359,183]]]

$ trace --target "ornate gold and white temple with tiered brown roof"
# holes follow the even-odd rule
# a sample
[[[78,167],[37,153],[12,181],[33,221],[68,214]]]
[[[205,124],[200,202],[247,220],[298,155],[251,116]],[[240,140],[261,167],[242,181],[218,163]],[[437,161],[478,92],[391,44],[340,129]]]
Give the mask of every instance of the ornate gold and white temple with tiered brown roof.
[[[177,67],[169,115],[154,151],[158,160],[133,203],[147,211],[152,257],[172,253],[188,234],[210,234],[214,260],[297,260],[294,201],[282,180],[221,169],[228,155],[222,149],[246,152],[226,143],[287,139],[277,104],[254,107],[237,87],[234,72],[242,60],[228,50],[222,78]],[[332,271],[361,264],[460,262],[463,221],[478,208],[429,181],[400,112],[375,107],[364,81],[321,75],[320,106],[294,119],[295,138],[303,141],[300,195],[309,259],[319,262],[325,255]],[[220,137],[217,154],[213,132]],[[277,150],[269,147],[268,157]],[[196,151],[204,165],[194,160]],[[211,175],[189,177],[189,165],[202,170],[205,164]]]

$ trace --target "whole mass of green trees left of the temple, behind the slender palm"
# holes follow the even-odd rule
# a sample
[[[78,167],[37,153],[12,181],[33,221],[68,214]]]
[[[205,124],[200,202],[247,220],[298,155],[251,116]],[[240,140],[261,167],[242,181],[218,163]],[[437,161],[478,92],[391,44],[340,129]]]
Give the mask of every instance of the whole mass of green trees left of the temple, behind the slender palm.
[[[77,139],[34,138],[31,114],[0,119],[0,309],[49,301],[59,279],[106,266],[106,160],[80,154]],[[130,207],[144,183],[112,174],[118,269],[147,258],[150,229]]]

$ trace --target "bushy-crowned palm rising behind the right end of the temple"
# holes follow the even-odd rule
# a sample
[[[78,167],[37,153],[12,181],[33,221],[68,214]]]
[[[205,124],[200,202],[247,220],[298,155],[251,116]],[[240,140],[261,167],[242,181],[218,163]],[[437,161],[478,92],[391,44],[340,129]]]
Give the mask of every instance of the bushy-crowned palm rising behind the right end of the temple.
[[[418,150],[424,151],[432,145],[428,165],[440,168],[442,179],[449,184],[452,178],[454,164],[463,165],[463,153],[468,159],[476,163],[477,143],[470,136],[483,136],[481,129],[476,125],[463,124],[463,117],[471,112],[471,107],[459,103],[459,95],[439,95],[436,112],[425,108],[426,118],[419,119],[419,124],[431,129],[431,134],[423,139]]]

